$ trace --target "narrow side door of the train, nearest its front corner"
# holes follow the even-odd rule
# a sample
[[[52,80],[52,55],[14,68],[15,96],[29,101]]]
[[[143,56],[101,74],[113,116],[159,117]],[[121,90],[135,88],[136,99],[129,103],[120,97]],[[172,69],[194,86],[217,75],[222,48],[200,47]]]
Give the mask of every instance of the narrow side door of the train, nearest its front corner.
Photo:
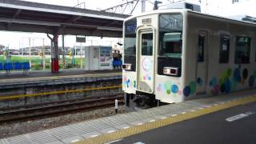
[[[208,34],[206,31],[199,31],[198,33],[198,46],[197,46],[197,66],[196,66],[196,79],[202,82],[201,86],[197,87],[197,94],[206,94],[207,85],[207,71],[208,71],[208,57],[207,57],[207,41]]]

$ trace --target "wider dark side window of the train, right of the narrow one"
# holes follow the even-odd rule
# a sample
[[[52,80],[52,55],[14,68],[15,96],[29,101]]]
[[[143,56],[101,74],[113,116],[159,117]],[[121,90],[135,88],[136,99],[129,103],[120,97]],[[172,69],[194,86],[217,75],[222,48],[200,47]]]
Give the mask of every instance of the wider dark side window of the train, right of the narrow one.
[[[250,63],[250,38],[236,37],[234,63]]]

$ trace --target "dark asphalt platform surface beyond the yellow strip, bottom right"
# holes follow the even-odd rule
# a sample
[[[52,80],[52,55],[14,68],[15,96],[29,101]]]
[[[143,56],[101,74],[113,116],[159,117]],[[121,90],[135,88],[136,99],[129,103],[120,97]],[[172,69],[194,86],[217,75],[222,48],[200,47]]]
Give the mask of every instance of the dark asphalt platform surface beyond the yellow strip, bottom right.
[[[174,119],[174,118],[173,118]],[[111,144],[254,144],[256,102],[158,127]]]

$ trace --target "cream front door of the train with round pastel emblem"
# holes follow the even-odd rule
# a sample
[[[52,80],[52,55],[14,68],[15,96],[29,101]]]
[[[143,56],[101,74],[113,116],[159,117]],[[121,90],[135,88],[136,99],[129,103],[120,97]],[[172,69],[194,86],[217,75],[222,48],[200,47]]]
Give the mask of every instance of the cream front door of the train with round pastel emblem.
[[[154,31],[138,30],[137,90],[154,92]]]

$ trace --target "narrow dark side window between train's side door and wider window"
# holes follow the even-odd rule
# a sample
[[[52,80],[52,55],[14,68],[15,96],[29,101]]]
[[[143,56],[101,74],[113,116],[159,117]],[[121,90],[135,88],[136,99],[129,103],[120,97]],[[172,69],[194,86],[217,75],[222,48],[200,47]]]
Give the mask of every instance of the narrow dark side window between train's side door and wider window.
[[[230,58],[230,37],[221,35],[220,50],[219,50],[219,63],[228,63]]]

